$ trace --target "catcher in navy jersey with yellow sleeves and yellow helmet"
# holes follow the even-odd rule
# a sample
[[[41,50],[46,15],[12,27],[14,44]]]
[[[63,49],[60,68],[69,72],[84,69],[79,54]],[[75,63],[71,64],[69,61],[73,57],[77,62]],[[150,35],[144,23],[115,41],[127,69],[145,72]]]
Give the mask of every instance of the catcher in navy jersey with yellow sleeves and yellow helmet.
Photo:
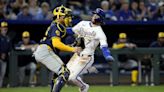
[[[40,45],[34,52],[35,59],[44,64],[48,69],[58,75],[57,80],[53,87],[53,92],[60,92],[62,86],[67,81],[70,72],[65,67],[64,63],[58,56],[58,51],[80,52],[80,47],[70,47],[62,42],[66,36],[66,27],[71,22],[71,10],[64,6],[59,6],[54,9],[54,21],[48,27],[44,38],[41,40]]]

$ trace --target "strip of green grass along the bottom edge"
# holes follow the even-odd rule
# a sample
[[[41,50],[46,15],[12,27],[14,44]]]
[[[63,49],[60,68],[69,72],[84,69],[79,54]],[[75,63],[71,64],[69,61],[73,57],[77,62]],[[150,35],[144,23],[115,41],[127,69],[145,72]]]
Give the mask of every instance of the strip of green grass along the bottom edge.
[[[0,92],[50,92],[49,87],[35,88],[0,88]],[[61,92],[78,92],[77,87],[64,87]],[[161,86],[91,86],[89,92],[164,92]]]

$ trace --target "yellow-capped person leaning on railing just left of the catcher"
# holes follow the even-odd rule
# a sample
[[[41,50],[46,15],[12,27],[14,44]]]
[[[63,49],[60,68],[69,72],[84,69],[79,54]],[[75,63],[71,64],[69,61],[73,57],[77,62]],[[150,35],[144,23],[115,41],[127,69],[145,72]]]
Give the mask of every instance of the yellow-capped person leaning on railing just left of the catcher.
[[[32,50],[37,47],[37,43],[33,40],[30,40],[30,33],[28,31],[24,31],[22,33],[22,41],[20,41],[16,49],[21,49],[21,50]],[[20,86],[23,85],[23,81],[25,78],[25,70],[29,69],[30,70],[30,78],[29,78],[29,84],[30,86],[33,86],[35,84],[34,76],[35,76],[35,71],[36,71],[36,63],[35,59],[32,58],[32,55],[22,55],[18,57],[18,66],[19,66],[19,82]]]

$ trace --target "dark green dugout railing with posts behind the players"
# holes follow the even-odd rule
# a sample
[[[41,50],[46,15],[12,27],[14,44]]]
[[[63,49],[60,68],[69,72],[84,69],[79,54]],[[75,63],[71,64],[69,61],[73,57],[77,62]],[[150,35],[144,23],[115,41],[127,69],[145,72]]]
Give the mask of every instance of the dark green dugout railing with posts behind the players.
[[[113,85],[119,84],[119,67],[118,67],[118,55],[119,54],[136,54],[140,57],[143,57],[145,54],[151,54],[152,57],[152,69],[153,69],[153,81],[155,85],[160,84],[160,69],[159,69],[159,57],[161,54],[164,54],[164,48],[135,48],[135,49],[118,49],[114,50],[111,49],[112,55],[115,58],[115,62],[112,64],[112,72],[111,72],[111,78],[113,81]],[[99,52],[99,55],[102,55],[101,52]],[[11,51],[10,57],[9,57],[9,85],[11,87],[18,86],[18,56],[19,55],[32,55],[32,52],[30,50],[13,50]],[[140,75],[141,76],[141,73]],[[45,86],[48,85],[48,70],[43,65],[41,65],[40,69],[40,75],[38,76],[40,79],[40,85]]]

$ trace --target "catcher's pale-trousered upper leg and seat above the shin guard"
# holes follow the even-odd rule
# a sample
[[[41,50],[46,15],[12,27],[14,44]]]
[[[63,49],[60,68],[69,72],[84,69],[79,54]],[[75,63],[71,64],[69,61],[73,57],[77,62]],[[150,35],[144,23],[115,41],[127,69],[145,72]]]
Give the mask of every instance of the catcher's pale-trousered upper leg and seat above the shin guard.
[[[34,52],[34,56],[37,62],[45,65],[49,70],[59,74],[59,69],[63,65],[60,58],[51,50],[48,49],[47,45],[38,46]]]

